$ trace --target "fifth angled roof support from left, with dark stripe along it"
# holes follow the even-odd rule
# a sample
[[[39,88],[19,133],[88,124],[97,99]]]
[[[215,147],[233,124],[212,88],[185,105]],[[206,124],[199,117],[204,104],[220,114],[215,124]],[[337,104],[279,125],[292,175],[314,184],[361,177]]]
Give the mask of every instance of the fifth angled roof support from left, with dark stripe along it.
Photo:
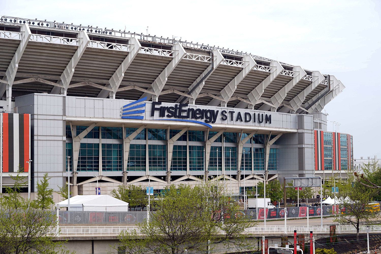
[[[224,60],[223,55],[218,50],[213,50],[213,61],[212,63],[201,73],[201,75],[193,81],[192,85],[189,86],[189,95],[192,98],[187,98],[185,96],[180,96],[176,103],[186,103],[189,100],[190,104],[196,104],[195,101],[197,96],[199,96],[203,86],[205,85],[205,81],[212,75],[212,73],[217,69],[218,65]]]

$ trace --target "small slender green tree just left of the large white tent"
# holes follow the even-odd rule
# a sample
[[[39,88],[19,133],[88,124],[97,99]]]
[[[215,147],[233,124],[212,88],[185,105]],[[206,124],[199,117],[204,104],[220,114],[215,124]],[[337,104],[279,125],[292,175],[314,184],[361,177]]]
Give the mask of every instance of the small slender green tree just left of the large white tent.
[[[49,188],[48,173],[45,173],[40,181],[37,181],[37,199],[33,200],[32,206],[36,209],[50,209],[53,201],[53,189]]]

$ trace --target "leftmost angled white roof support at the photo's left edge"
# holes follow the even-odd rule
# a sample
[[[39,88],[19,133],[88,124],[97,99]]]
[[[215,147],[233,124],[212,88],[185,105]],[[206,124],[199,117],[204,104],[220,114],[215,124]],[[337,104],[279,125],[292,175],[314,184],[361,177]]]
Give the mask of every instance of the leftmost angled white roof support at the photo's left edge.
[[[21,59],[22,54],[24,53],[26,49],[26,45],[29,42],[30,36],[32,33],[29,30],[29,26],[27,24],[22,24],[20,27],[21,31],[21,41],[20,44],[16,50],[16,52],[13,55],[13,58],[8,66],[8,69],[5,71],[5,76],[0,81],[0,98],[3,97],[5,91],[6,91],[6,101],[8,104],[8,109],[11,110],[11,98],[12,98],[12,85],[14,78],[16,77],[16,72],[19,67],[19,62]]]

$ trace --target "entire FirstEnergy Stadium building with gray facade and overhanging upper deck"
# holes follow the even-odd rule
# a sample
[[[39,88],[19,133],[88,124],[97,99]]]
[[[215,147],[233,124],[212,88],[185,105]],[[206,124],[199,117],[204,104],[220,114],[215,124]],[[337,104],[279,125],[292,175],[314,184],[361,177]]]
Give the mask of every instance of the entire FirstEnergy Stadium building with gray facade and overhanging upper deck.
[[[321,112],[344,85],[243,51],[2,16],[0,82],[2,191],[19,167],[32,193],[69,168],[73,195],[207,177],[238,196],[353,165],[352,137],[328,137]]]

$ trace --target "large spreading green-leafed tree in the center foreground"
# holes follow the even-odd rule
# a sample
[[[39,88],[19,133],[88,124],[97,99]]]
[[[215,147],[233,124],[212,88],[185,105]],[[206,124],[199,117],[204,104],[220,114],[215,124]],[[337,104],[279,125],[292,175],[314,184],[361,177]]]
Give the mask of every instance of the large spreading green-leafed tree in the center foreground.
[[[209,181],[194,188],[171,185],[164,193],[157,211],[150,214],[149,224],[139,224],[138,231],[146,237],[137,239],[135,233],[123,232],[119,248],[130,254],[179,254],[184,249],[205,252],[210,240],[227,249],[250,249],[242,232],[256,222],[245,219],[229,201],[223,184]]]

